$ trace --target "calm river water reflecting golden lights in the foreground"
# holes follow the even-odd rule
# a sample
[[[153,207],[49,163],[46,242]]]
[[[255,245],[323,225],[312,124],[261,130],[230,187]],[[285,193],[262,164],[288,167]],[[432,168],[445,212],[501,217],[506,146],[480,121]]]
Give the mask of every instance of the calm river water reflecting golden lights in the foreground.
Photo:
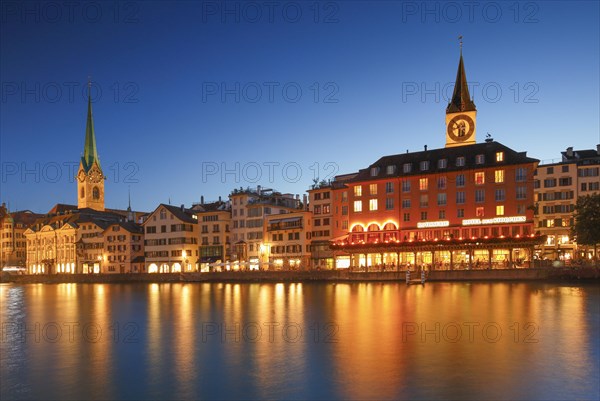
[[[600,399],[600,285],[0,285],[0,398]]]

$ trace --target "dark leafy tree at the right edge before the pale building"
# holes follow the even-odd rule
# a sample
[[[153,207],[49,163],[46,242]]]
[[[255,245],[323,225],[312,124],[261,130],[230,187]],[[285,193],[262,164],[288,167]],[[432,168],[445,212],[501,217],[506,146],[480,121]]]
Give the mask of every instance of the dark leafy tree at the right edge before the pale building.
[[[575,205],[575,224],[572,235],[579,245],[594,247],[594,255],[598,257],[600,244],[600,193],[580,196]]]

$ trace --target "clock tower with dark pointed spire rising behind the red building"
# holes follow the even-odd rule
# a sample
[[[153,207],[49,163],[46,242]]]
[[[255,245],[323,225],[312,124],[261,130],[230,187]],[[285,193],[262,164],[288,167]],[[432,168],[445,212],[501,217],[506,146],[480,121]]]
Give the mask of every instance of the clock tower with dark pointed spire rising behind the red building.
[[[460,60],[454,83],[452,99],[446,107],[446,147],[471,145],[475,143],[475,122],[477,109],[469,95],[467,75],[462,59],[462,36],[460,41]]]

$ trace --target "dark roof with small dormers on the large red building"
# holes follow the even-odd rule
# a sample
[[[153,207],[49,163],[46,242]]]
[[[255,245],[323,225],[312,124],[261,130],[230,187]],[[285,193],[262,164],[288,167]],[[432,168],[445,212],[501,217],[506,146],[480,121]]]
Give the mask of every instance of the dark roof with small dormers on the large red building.
[[[496,153],[504,152],[504,161],[496,162]],[[527,157],[527,152],[517,152],[499,142],[483,142],[472,145],[456,146],[450,148],[440,148],[425,150],[422,152],[401,153],[397,155],[384,156],[371,164],[368,168],[360,170],[356,177],[347,182],[357,182],[365,180],[375,180],[391,177],[402,177],[411,175],[423,175],[434,173],[445,173],[450,171],[469,170],[475,168],[485,168],[491,166],[507,166],[516,164],[537,163],[538,159]],[[476,164],[475,158],[477,155],[483,155],[485,162]],[[464,166],[457,166],[456,159],[458,157],[465,158]],[[446,159],[446,167],[440,168],[438,161]],[[426,171],[420,170],[420,162],[428,161],[429,168]],[[411,165],[411,171],[404,173],[403,166]],[[387,174],[387,166],[395,166],[393,174]],[[372,168],[376,169],[376,174],[372,175]]]

